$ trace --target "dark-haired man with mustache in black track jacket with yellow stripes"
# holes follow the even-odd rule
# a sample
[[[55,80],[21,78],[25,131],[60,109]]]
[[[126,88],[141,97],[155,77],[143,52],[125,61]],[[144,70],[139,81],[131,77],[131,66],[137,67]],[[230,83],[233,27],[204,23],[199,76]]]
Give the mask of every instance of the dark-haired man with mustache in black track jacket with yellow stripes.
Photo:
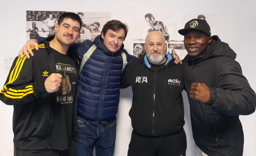
[[[14,107],[15,156],[75,156],[79,70],[68,48],[81,25],[77,14],[63,13],[52,40],[40,44],[39,51],[32,47],[30,59],[15,58],[0,92],[1,101]]]

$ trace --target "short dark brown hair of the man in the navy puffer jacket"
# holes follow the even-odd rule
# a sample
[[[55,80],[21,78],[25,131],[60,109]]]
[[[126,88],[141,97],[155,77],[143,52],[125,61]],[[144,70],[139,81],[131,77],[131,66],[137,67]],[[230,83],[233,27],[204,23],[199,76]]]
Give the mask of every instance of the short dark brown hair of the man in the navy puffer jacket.
[[[128,33],[128,27],[127,25],[123,24],[122,22],[118,21],[118,20],[111,20],[111,21],[108,21],[102,28],[102,31],[101,33],[103,33],[103,36],[106,35],[107,31],[111,29],[113,31],[118,31],[120,29],[123,29],[124,30],[124,39],[125,37],[127,36],[127,33]]]

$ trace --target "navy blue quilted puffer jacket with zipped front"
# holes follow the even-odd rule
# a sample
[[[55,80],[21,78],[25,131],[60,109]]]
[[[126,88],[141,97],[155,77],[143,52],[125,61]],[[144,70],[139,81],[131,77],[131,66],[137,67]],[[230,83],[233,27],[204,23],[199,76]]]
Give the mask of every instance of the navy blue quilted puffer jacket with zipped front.
[[[88,49],[95,44],[97,49],[85,63],[79,78],[77,90],[77,114],[91,120],[106,120],[114,117],[119,104],[120,77],[123,59],[121,52],[126,54],[127,64],[136,57],[123,49],[110,52],[98,35],[94,41],[85,40],[70,46],[70,50],[78,53],[79,62]]]

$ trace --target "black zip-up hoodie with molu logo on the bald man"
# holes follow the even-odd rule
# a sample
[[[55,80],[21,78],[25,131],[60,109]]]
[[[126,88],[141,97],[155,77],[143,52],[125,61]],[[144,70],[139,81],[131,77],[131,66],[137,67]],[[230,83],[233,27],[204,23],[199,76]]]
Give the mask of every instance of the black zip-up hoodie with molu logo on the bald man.
[[[166,64],[155,72],[144,55],[128,65],[121,76],[121,88],[132,86],[129,115],[134,131],[139,134],[175,134],[185,123],[182,65],[175,64],[169,54],[166,58]]]

